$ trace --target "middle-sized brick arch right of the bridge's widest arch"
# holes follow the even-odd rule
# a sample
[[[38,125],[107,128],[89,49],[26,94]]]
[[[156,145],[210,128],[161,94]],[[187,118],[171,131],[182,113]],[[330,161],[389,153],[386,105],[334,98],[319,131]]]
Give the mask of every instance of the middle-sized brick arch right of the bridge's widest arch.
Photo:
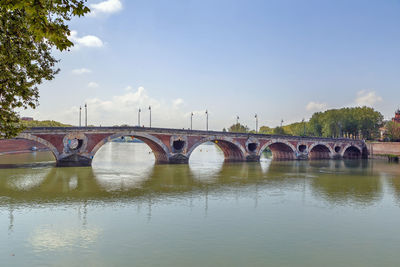
[[[209,136],[196,142],[187,152],[187,158],[190,159],[192,152],[201,144],[206,142],[215,143],[224,153],[225,161],[245,161],[245,148],[238,142],[228,137]]]

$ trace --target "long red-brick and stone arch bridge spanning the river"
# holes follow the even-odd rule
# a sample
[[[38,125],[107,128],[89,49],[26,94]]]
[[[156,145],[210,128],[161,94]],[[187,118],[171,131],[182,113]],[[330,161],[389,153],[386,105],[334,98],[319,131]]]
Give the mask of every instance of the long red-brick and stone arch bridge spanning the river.
[[[196,147],[206,142],[218,145],[226,161],[259,161],[267,148],[278,160],[368,157],[362,140],[164,128],[37,127],[24,131],[18,138],[47,146],[57,166],[90,166],[105,143],[122,136],[132,136],[146,143],[157,163],[188,163]]]

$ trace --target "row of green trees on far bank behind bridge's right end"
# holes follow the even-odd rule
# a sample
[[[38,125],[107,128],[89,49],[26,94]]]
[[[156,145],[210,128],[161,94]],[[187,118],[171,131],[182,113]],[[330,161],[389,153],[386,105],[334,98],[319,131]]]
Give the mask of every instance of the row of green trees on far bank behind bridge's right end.
[[[379,129],[385,124],[387,126],[386,137],[392,141],[395,141],[396,138],[400,140],[400,124],[385,123],[383,115],[370,107],[351,107],[316,112],[309,121],[295,122],[275,128],[261,126],[258,132],[262,134],[375,140],[380,138]],[[249,131],[247,126],[240,123],[229,127],[228,131],[254,132]]]

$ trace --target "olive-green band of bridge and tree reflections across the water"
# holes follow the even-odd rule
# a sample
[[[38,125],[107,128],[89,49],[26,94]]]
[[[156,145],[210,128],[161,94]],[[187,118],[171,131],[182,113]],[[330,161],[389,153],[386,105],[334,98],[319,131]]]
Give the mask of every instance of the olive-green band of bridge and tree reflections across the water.
[[[151,155],[150,155],[151,157]],[[146,159],[144,159],[146,160]],[[400,174],[396,165],[385,162],[272,161],[223,163],[215,161],[189,165],[135,164],[108,166],[101,160],[84,168],[0,169],[0,205],[10,203],[52,204],[76,201],[157,201],[187,194],[240,191],[256,194],[256,188],[283,191],[308,190],[332,204],[372,205],[382,196],[382,179],[396,197]],[[210,167],[211,166],[211,167]],[[253,191],[252,191],[253,190]]]

